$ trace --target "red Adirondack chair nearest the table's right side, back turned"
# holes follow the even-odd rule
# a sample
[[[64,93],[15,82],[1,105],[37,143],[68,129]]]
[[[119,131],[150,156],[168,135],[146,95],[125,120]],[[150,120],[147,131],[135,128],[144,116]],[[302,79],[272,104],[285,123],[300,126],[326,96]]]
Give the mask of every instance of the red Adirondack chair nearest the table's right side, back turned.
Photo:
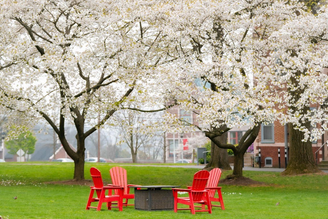
[[[174,197],[174,212],[177,210],[190,210],[192,214],[198,211],[208,211],[212,213],[211,201],[208,195],[208,190],[205,189],[206,182],[209,178],[210,173],[207,170],[200,170],[195,173],[193,186],[191,189],[172,188]],[[178,192],[188,192],[189,197],[178,198]],[[203,200],[205,197],[205,200]],[[189,208],[177,208],[177,204],[189,205]],[[194,203],[207,205],[207,209],[195,210]]]

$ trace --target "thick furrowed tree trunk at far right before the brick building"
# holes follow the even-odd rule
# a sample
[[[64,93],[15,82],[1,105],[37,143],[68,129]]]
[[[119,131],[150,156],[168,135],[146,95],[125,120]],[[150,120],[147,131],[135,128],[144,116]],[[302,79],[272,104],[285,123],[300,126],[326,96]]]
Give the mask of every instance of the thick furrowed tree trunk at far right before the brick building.
[[[306,126],[310,127],[310,124],[306,124]],[[289,162],[287,168],[282,172],[282,175],[320,172],[313,157],[311,140],[309,139],[306,142],[302,142],[304,132],[294,129],[291,123],[288,123],[288,129]]]

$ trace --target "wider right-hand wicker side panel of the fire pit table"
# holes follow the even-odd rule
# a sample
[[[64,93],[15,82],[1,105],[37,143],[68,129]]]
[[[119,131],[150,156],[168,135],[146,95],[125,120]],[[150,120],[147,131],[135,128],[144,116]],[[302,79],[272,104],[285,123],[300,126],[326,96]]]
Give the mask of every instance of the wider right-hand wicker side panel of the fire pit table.
[[[167,190],[152,190],[151,210],[173,209],[173,192]]]

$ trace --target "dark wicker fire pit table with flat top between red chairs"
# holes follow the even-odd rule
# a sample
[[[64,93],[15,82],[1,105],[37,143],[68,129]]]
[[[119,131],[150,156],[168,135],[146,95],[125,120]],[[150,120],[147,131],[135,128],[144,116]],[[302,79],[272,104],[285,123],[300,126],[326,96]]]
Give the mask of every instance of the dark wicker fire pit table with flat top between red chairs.
[[[134,209],[137,210],[173,210],[172,189],[180,186],[129,186],[134,188]],[[137,189],[140,188],[140,189]]]

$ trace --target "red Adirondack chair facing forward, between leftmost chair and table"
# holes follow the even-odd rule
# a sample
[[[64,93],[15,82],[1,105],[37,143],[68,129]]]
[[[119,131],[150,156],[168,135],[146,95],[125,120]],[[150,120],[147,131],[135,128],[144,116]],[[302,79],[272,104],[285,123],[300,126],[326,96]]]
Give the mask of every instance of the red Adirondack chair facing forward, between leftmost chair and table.
[[[108,184],[108,186],[122,186],[124,187],[123,199],[123,206],[134,205],[128,204],[128,199],[134,199],[134,194],[129,194],[130,187],[129,186],[139,186],[139,185],[131,185],[127,184],[127,175],[126,170],[119,166],[114,166],[112,169],[109,170],[111,174],[113,184]],[[114,194],[117,195],[117,190],[114,190]],[[116,205],[117,203],[112,203],[112,205]]]

